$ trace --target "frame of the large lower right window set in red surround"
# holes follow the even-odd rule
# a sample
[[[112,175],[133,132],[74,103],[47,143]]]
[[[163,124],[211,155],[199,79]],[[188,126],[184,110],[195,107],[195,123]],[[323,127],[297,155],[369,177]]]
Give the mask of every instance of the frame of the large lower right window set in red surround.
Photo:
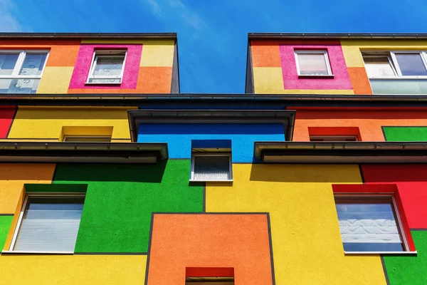
[[[399,213],[399,207],[396,203],[396,198],[394,197],[394,193],[334,193],[334,198],[355,198],[355,199],[371,199],[371,198],[390,198],[391,206],[393,207],[394,214],[396,214],[396,225],[399,230],[399,235],[402,239],[402,245],[404,250],[402,252],[346,252],[344,254],[414,254],[416,252],[411,252],[411,248],[408,244],[408,237],[406,237],[406,232],[404,228],[404,224],[401,219],[401,215]],[[334,204],[335,202],[334,199]],[[339,237],[341,237],[341,232],[339,233]]]

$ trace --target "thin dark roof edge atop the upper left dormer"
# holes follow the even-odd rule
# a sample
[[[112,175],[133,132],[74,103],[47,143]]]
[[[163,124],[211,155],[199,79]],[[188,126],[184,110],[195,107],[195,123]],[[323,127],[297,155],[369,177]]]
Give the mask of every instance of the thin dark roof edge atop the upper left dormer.
[[[176,33],[0,33],[0,38],[176,38]]]

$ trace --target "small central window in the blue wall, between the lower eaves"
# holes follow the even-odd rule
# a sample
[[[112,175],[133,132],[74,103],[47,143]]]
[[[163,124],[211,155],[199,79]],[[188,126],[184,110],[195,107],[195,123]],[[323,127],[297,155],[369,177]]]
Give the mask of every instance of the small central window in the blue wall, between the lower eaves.
[[[231,154],[194,154],[191,160],[191,180],[232,181]]]

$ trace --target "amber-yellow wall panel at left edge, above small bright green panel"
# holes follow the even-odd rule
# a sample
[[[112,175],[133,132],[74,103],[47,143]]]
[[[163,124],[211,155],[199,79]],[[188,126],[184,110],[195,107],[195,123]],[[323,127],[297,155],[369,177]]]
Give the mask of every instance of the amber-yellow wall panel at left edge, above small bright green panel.
[[[0,164],[0,214],[14,214],[25,183],[52,182],[55,165]]]

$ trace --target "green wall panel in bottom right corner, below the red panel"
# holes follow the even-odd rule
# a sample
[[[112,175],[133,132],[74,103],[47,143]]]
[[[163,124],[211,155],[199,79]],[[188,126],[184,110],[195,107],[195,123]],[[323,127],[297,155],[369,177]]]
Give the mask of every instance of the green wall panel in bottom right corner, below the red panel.
[[[427,231],[411,231],[417,256],[384,257],[391,285],[427,284]]]

